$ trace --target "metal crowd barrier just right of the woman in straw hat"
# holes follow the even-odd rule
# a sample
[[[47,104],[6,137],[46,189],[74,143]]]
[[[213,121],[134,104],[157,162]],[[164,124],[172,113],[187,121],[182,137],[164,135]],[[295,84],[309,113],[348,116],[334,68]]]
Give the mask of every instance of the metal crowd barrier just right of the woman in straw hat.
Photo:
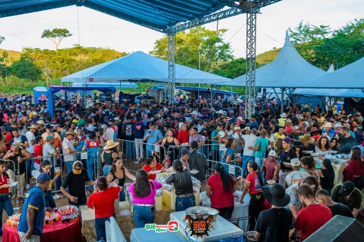
[[[160,162],[162,165],[165,164],[166,150],[164,146],[157,145],[157,144],[148,144],[145,142],[138,142],[134,140],[125,140],[125,139],[118,139],[119,142],[119,149],[122,153],[122,158],[124,159],[123,166],[126,167],[131,172],[137,172],[139,169],[145,165],[142,161],[138,163],[134,163],[137,158],[137,149],[139,158],[143,158],[144,160],[147,159],[147,148],[148,146],[153,146],[154,155],[156,156],[157,162]],[[168,167],[166,167],[168,168]]]

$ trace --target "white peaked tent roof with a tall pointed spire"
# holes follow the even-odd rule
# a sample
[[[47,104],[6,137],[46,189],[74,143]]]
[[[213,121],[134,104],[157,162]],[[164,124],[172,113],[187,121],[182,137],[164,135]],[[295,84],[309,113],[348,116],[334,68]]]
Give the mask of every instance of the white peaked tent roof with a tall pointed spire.
[[[313,85],[312,80],[325,74],[326,71],[312,66],[300,56],[289,41],[288,31],[286,31],[286,42],[277,58],[256,70],[256,87],[307,88]],[[245,86],[245,75],[221,85]]]

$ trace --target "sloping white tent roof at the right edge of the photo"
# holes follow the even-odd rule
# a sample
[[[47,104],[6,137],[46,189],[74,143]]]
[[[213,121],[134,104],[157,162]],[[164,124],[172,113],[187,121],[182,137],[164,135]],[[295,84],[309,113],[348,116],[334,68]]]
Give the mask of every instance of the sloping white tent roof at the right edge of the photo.
[[[364,88],[364,57],[315,80],[312,88]]]

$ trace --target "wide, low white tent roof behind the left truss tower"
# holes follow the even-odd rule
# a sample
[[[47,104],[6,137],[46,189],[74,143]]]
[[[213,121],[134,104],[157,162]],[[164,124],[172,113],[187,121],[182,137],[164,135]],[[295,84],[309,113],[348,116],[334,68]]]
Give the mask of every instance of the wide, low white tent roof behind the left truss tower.
[[[177,83],[214,84],[229,78],[176,64]],[[168,62],[142,51],[63,77],[62,82],[100,83],[148,79],[168,82]]]

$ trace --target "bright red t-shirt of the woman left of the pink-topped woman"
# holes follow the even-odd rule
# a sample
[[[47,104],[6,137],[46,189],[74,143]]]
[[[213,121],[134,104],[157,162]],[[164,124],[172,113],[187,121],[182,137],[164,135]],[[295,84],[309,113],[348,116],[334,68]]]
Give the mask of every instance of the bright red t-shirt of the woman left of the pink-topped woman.
[[[114,200],[119,198],[119,193],[120,187],[110,187],[88,198],[87,206],[95,208],[95,218],[102,219],[115,214]]]

